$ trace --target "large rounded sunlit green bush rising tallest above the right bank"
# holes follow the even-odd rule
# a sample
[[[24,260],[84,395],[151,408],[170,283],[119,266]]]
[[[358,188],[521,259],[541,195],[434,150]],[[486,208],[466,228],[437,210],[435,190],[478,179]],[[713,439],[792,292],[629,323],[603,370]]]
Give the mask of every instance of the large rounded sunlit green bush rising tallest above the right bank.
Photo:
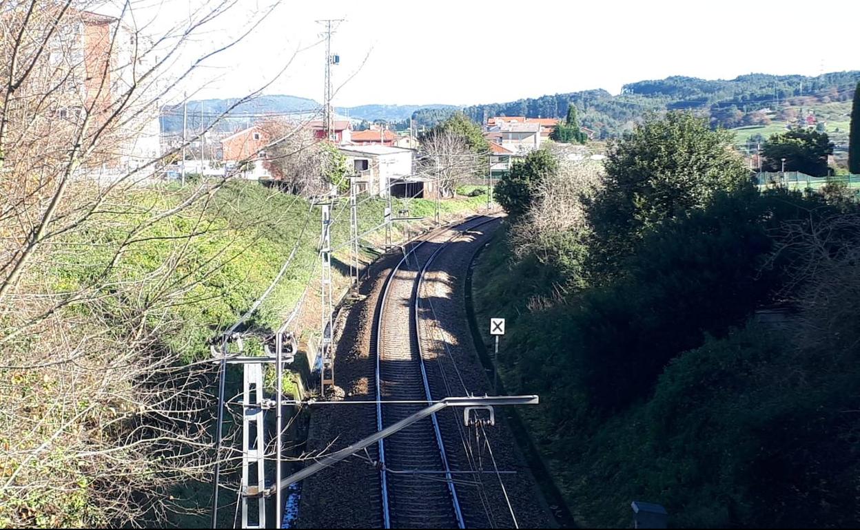
[[[617,271],[649,230],[706,208],[718,192],[750,187],[732,142],[732,133],[711,131],[705,119],[668,113],[648,116],[612,143],[605,187],[588,208],[594,230],[591,268]]]

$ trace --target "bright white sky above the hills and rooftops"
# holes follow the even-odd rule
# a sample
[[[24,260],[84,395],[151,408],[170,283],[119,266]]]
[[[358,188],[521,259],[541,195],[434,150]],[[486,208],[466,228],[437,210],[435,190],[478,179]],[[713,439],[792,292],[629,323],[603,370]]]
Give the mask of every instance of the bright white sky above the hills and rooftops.
[[[158,21],[202,0],[137,0]],[[200,36],[205,49],[235,34],[273,0],[239,0]],[[157,10],[156,10],[157,9]],[[286,0],[236,49],[212,59],[201,97],[236,97],[270,79],[292,50],[319,39],[316,19],[345,18],[333,40],[335,85],[358,70],[336,106],[468,105],[605,88],[683,75],[818,75],[860,69],[860,2],[673,0],[536,2]],[[363,67],[359,66],[367,54]],[[316,46],[267,89],[322,100]],[[190,56],[189,56],[190,57]]]

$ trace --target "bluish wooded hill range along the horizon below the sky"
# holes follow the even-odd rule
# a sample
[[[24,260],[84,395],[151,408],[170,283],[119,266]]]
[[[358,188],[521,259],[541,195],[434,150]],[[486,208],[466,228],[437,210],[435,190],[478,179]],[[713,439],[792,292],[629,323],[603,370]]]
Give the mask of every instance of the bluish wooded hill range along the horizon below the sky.
[[[797,113],[814,111],[832,122],[842,121],[850,107],[860,70],[832,72],[820,76],[771,76],[749,74],[734,79],[699,79],[672,76],[666,79],[632,82],[621,94],[603,89],[566,94],[548,94],[505,103],[470,107],[453,105],[362,105],[336,107],[337,113],[352,119],[402,121],[415,118],[419,126],[433,126],[440,119],[462,108],[471,119],[481,123],[489,116],[527,116],[563,118],[568,104],[580,111],[581,124],[598,137],[617,137],[629,131],[647,112],[687,109],[710,118],[712,125],[727,128],[766,126],[789,122]],[[188,128],[208,125],[236,100],[203,100],[188,103]],[[232,117],[218,124],[220,131],[232,131],[265,115],[304,115],[319,113],[320,104],[291,95],[266,95],[237,107]],[[792,112],[793,110],[793,112]],[[182,127],[182,108],[165,107],[162,131],[178,133]]]

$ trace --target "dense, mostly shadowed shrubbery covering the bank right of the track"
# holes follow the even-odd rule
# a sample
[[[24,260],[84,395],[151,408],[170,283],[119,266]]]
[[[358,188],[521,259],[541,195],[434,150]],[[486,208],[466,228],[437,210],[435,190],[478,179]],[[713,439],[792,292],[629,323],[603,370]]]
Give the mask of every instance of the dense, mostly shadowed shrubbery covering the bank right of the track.
[[[540,235],[575,266],[529,246],[509,260],[522,235],[479,265],[492,279],[477,310],[507,298],[493,311],[512,319],[503,380],[541,395],[526,423],[588,525],[626,525],[635,498],[665,504],[673,526],[860,513],[860,214],[759,194],[726,140],[688,116],[649,122],[615,146],[590,222]],[[753,322],[772,302],[796,311],[776,332]]]

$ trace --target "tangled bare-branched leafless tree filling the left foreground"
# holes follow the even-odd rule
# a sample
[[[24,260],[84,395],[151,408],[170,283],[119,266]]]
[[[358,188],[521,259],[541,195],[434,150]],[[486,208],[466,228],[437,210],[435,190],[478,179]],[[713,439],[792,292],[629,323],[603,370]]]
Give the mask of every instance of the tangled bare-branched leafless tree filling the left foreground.
[[[233,176],[153,187],[157,113],[277,3],[177,70],[237,0],[149,36],[130,1],[0,1],[0,526],[144,524],[209,471],[213,367],[170,338],[243,251],[206,215]]]

